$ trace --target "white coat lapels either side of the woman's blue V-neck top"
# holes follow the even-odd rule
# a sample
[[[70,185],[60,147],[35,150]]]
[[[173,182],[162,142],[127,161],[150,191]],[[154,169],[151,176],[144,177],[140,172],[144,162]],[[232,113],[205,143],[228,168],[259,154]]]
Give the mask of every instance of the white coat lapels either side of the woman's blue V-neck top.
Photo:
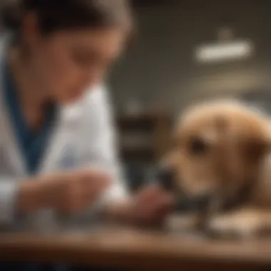
[[[0,63],[6,56],[7,38],[0,42]],[[14,173],[18,177],[23,178],[27,176],[26,165],[24,163],[23,155],[19,150],[19,145],[16,143],[16,137],[11,127],[9,119],[9,112],[3,99],[3,73],[0,66],[0,143],[6,149],[8,158],[14,168]],[[77,101],[70,106],[60,106],[58,108],[58,116],[53,129],[53,134],[48,143],[48,147],[44,153],[44,158],[41,160],[38,173],[47,173],[53,171],[56,160],[58,160],[66,145],[71,142],[76,142],[76,131],[78,131],[78,124],[82,118],[83,106],[82,101]]]

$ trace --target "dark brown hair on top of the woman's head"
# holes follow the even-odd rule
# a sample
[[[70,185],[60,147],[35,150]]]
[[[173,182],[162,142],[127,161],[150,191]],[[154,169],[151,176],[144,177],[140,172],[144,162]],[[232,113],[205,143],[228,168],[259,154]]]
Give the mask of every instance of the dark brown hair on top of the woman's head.
[[[26,14],[35,13],[42,34],[66,29],[124,27],[131,29],[128,0],[0,0],[4,29],[20,33]]]

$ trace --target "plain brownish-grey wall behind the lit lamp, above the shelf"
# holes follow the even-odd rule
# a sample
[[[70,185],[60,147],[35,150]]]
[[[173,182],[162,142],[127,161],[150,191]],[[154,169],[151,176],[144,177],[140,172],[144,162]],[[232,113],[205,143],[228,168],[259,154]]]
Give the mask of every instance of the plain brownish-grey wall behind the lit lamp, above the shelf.
[[[139,39],[112,74],[117,108],[131,99],[162,103],[176,113],[200,98],[271,86],[271,1],[135,1]],[[139,4],[138,4],[139,3]],[[221,27],[250,39],[255,53],[242,61],[197,63],[195,47],[218,39]]]

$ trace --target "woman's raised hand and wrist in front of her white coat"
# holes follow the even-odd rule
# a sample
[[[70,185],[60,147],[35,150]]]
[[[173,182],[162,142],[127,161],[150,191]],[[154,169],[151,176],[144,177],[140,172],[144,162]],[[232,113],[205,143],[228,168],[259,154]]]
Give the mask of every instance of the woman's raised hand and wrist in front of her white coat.
[[[98,200],[110,183],[109,176],[97,170],[78,170],[28,180],[21,183],[19,189],[19,212],[54,208],[71,215]]]

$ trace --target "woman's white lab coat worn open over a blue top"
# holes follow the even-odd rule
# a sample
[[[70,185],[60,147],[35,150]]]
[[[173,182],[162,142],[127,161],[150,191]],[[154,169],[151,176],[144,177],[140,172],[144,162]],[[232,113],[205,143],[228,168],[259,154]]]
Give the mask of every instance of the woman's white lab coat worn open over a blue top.
[[[6,39],[3,39],[0,61],[5,52]],[[16,214],[19,183],[29,176],[3,101],[2,76],[0,66],[0,227],[15,226],[17,229],[59,224],[61,219],[53,210],[40,210],[27,218],[18,218]],[[67,168],[103,168],[111,173],[113,183],[97,205],[126,197],[115,140],[108,93],[102,86],[91,89],[81,101],[61,108],[38,173],[54,173]],[[95,206],[91,206],[90,211],[94,212]]]

